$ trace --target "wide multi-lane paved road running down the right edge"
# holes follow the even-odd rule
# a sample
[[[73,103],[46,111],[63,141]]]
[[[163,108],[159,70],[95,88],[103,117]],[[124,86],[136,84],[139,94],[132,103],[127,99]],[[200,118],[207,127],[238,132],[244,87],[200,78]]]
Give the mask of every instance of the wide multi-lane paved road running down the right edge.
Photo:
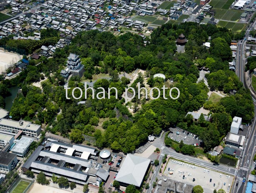
[[[236,59],[236,74],[239,77],[239,80],[245,86],[245,78],[244,78],[244,69],[246,63],[246,39],[248,39],[250,31],[254,29],[256,25],[256,21],[252,23],[246,31],[245,37],[242,41],[239,42],[237,46],[237,59]],[[250,88],[249,88],[250,89]],[[254,99],[255,100],[255,99]],[[254,108],[256,108],[256,104],[254,103]],[[251,125],[251,129],[249,130],[249,134],[246,136],[246,147],[244,149],[243,158],[239,163],[239,170],[236,173],[236,182],[232,188],[233,193],[244,193],[246,190],[246,183],[241,183],[242,178],[248,178],[251,167],[253,167],[253,158],[255,154],[255,138],[256,138],[256,111],[254,110],[254,122]],[[236,186],[238,184],[238,186]]]

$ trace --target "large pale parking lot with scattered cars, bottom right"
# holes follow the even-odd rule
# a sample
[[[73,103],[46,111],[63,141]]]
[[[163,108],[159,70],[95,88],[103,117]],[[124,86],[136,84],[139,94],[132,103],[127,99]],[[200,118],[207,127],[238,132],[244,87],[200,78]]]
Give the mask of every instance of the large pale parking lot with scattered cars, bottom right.
[[[171,172],[172,174],[170,174]],[[194,186],[200,185],[204,189],[205,193],[212,193],[214,189],[217,191],[219,189],[224,189],[227,193],[231,192],[229,184],[230,187],[232,187],[234,179],[233,176],[227,176],[224,173],[219,173],[200,166],[194,166],[192,164],[186,164],[182,161],[175,161],[172,159],[169,159],[164,170],[164,175],[167,176],[167,178],[176,179]]]

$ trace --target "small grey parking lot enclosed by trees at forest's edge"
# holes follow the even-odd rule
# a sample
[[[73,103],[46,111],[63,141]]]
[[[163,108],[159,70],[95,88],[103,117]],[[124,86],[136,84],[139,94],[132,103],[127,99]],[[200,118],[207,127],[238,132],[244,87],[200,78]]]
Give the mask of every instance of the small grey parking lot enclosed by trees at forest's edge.
[[[185,144],[196,144],[196,145],[200,144],[199,139],[194,138],[194,134],[191,134],[191,133],[188,134],[187,131],[183,133],[184,130],[179,128],[171,128],[170,130],[171,132],[168,134],[168,137],[173,139],[174,141],[180,142],[182,140]],[[177,132],[179,134],[177,134]]]

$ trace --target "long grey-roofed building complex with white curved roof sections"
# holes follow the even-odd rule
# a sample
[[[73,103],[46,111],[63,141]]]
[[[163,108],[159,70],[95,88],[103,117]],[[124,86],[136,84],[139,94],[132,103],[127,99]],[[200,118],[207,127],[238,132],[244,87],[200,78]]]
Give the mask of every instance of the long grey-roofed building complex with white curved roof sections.
[[[109,176],[110,166],[105,166],[89,160],[96,157],[96,148],[62,142],[48,142],[39,146],[22,166],[22,171],[28,169],[46,176],[64,176],[69,181],[84,185],[90,183],[99,186]]]

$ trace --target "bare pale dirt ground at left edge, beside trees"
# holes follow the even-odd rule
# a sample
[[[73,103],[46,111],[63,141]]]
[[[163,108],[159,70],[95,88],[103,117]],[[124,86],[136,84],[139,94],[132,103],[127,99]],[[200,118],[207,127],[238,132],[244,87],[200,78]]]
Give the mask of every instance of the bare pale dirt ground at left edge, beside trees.
[[[0,50],[0,74],[5,73],[5,68],[13,66],[22,56],[7,51]]]

